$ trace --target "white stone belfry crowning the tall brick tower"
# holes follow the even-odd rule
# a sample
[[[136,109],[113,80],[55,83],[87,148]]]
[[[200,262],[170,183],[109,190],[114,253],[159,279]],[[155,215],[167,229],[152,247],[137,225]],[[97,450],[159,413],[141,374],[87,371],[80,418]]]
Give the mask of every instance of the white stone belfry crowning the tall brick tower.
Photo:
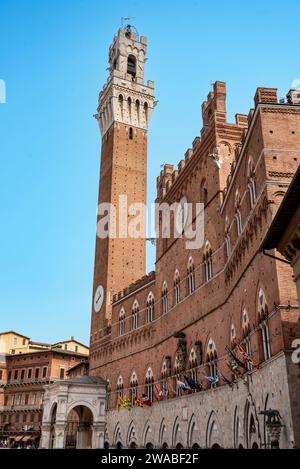
[[[121,28],[109,49],[109,78],[99,96],[102,136],[119,122],[146,130],[154,108],[154,82],[144,84],[147,39],[138,38],[131,26]]]

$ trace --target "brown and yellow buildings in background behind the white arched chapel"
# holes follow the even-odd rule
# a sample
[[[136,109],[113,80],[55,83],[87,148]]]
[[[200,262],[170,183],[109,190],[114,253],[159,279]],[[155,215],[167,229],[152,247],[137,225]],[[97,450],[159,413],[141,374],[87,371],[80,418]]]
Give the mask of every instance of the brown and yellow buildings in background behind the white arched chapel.
[[[86,363],[88,347],[73,338],[49,345],[15,332],[1,337],[6,353],[0,354],[0,438],[10,446],[38,446],[45,386],[67,380],[69,370]]]

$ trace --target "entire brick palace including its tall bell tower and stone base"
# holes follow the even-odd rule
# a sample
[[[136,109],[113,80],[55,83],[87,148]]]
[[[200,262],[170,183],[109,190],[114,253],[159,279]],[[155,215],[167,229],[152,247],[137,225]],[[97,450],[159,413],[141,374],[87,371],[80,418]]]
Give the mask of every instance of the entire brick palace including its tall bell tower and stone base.
[[[146,199],[145,57],[146,39],[121,29],[99,98],[99,202]],[[144,240],[97,239],[90,375],[109,382],[106,446],[300,447],[296,288],[280,254],[260,249],[299,166],[300,100],[259,88],[254,108],[230,123],[216,82],[202,120],[178,167],[161,171],[157,201],[202,202],[203,247],[160,238],[145,276]],[[198,386],[180,389],[186,378]],[[135,405],[143,394],[151,407]],[[126,396],[132,409],[118,411]]]

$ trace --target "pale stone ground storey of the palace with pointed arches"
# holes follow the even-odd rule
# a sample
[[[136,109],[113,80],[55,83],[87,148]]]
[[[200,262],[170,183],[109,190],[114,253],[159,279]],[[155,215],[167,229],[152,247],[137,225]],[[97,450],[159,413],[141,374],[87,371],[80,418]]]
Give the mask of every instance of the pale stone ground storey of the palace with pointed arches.
[[[294,371],[293,371],[294,370]],[[109,411],[106,445],[123,448],[268,448],[265,417],[282,417],[279,445],[300,447],[300,383],[290,356],[279,354],[238,386],[156,402],[131,412]],[[299,413],[299,412],[298,412]]]

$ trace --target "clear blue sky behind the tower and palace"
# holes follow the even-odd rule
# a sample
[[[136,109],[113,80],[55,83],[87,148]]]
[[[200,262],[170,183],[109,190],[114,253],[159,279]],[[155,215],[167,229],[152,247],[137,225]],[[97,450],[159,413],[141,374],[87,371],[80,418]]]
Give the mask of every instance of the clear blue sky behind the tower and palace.
[[[165,162],[201,128],[211,83],[228,116],[258,86],[284,96],[299,69],[299,0],[0,0],[0,330],[88,342],[100,135],[92,118],[122,16],[148,36],[159,106],[149,135],[149,201]],[[148,268],[154,252],[149,251]]]

